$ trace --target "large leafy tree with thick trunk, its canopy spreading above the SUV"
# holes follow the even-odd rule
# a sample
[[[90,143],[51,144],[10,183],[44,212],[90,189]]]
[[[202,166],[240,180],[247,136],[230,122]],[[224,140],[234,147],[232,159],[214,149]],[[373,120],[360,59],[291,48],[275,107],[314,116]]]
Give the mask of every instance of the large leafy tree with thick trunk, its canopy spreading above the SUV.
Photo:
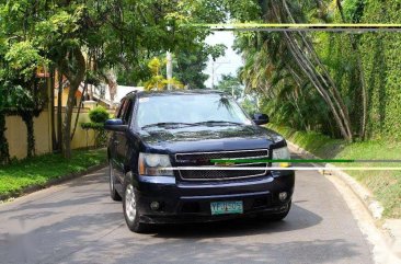
[[[206,0],[191,4],[167,0],[15,0],[1,2],[1,20],[7,27],[3,39],[15,37],[15,42],[32,44],[49,68],[68,79],[61,150],[70,158],[75,94],[85,72],[102,76],[115,69],[126,72],[129,83],[142,82],[151,76],[147,67],[150,58],[167,50],[192,50],[208,35],[181,24],[222,21],[220,5]]]

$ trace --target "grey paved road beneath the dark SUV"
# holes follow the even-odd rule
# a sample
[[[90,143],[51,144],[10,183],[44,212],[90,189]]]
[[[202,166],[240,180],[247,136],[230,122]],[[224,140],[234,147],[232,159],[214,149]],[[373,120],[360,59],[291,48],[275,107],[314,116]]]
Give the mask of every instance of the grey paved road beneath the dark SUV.
[[[0,263],[371,263],[335,187],[297,172],[285,221],[167,226],[131,233],[105,170],[0,206]]]

